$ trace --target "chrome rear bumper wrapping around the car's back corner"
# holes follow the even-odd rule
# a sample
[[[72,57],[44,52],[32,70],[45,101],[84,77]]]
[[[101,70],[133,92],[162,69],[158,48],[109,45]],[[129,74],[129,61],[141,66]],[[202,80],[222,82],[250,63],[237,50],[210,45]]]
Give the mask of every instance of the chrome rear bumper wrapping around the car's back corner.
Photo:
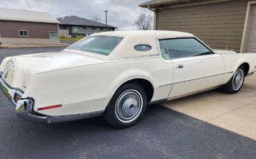
[[[15,88],[11,88],[3,81],[0,73],[0,86],[3,93],[12,101],[12,104],[16,106],[15,113],[19,118],[30,122],[45,122],[45,123],[57,123],[68,122],[73,120],[81,120],[86,118],[93,118],[102,115],[104,111],[97,111],[92,113],[82,113],[77,115],[64,115],[64,116],[47,116],[36,113],[34,111],[35,100],[32,97],[22,98],[23,93]],[[15,100],[16,95],[21,97],[20,100]]]

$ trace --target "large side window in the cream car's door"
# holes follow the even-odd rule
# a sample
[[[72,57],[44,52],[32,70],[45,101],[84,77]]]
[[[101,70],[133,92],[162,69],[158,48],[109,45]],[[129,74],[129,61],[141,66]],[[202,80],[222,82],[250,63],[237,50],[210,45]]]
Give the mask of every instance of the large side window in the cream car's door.
[[[194,38],[165,39],[165,44],[171,59],[213,54],[211,50]]]

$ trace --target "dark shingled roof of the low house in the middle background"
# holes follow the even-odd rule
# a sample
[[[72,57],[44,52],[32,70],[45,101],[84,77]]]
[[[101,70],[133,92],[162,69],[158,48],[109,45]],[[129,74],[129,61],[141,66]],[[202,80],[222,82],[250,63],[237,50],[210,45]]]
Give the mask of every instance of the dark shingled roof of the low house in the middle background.
[[[71,25],[71,26],[95,26],[105,28],[106,24],[98,23],[96,21],[91,21],[77,16],[67,16],[63,18],[58,18],[60,25]],[[107,25],[107,28],[117,28],[115,26]]]

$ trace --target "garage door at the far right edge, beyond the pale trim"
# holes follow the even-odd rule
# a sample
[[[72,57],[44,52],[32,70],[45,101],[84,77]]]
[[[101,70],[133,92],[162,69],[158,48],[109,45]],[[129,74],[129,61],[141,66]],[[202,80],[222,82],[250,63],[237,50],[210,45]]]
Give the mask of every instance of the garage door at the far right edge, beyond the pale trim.
[[[256,53],[256,5],[252,6],[252,16],[250,19],[250,30],[246,52]]]

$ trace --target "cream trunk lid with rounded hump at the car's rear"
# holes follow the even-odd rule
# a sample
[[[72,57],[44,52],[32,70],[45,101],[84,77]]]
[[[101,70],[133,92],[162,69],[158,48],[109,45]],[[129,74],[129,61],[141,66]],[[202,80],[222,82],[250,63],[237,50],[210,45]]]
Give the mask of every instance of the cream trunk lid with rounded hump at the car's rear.
[[[6,64],[2,63],[1,67],[3,67],[3,80],[10,86],[24,91],[32,75],[102,62],[105,61],[77,53],[60,51],[10,57],[8,60],[3,60],[3,63]]]

